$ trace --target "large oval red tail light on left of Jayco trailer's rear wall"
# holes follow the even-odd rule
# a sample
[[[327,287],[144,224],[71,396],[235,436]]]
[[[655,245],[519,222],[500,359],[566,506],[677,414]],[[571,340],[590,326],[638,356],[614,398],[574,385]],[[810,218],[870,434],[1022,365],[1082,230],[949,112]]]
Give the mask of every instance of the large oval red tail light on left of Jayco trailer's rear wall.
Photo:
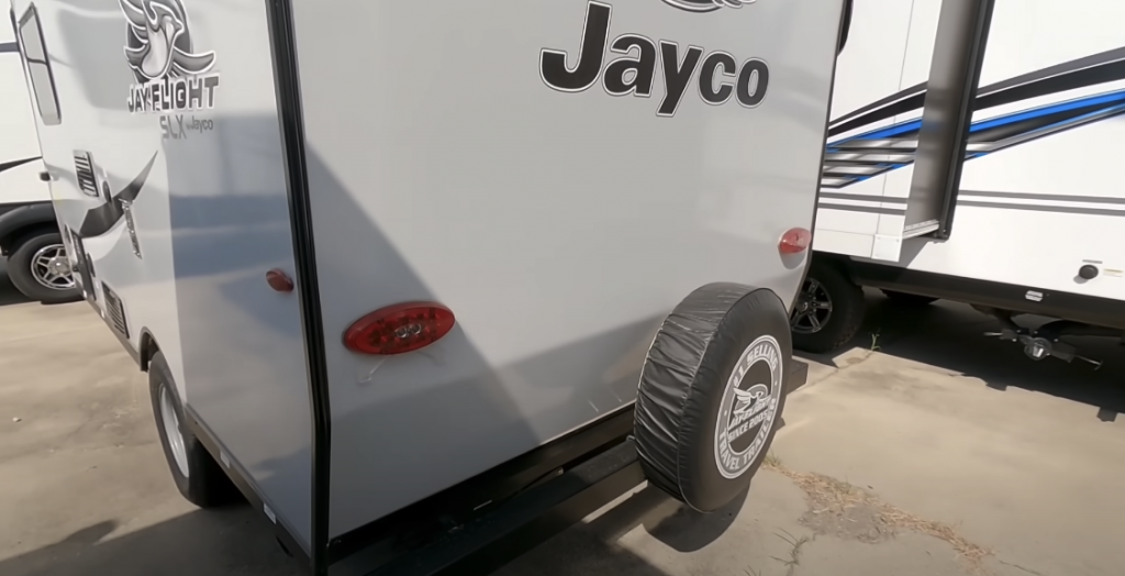
[[[344,348],[390,356],[425,348],[453,330],[453,313],[432,303],[404,303],[375,310],[344,331]]]

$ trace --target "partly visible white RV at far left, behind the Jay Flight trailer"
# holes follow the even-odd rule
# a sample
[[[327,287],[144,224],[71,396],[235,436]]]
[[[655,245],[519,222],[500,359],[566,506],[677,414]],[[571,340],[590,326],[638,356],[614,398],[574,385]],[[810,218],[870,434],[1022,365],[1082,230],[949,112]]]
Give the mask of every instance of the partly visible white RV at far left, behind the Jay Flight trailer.
[[[24,296],[73,300],[81,292],[58,234],[51,189],[39,179],[39,141],[18,46],[11,26],[0,26],[0,255],[8,259],[8,278]]]

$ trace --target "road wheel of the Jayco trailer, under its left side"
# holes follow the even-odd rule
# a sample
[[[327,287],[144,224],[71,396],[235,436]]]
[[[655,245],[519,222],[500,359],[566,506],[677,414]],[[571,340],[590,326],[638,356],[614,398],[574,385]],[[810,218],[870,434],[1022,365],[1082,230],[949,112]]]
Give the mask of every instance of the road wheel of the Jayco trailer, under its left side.
[[[160,444],[180,494],[201,508],[233,502],[236,488],[187,426],[183,405],[163,352],[156,352],[148,362],[148,392]]]

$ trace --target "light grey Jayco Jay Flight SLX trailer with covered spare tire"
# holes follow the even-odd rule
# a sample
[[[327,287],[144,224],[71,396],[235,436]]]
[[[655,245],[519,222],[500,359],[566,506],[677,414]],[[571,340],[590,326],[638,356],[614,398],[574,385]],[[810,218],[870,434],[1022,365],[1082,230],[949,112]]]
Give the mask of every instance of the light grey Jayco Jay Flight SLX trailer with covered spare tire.
[[[645,479],[746,489],[803,378],[846,3],[12,7],[181,493],[400,575],[484,574]]]

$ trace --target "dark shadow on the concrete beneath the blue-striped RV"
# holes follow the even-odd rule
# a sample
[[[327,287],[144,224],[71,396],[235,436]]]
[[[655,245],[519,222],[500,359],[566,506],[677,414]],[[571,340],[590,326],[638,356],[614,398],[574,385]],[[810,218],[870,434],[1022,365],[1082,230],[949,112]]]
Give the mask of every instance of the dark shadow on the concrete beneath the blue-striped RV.
[[[927,363],[983,380],[990,388],[1009,387],[1050,394],[1089,404],[1097,417],[1113,421],[1125,413],[1125,346],[1110,339],[1077,338],[1079,354],[1104,362],[1100,368],[1074,360],[1028,359],[1023,348],[984,336],[999,324],[962,304],[938,302],[929,306],[893,303],[878,291],[866,292],[864,326],[839,352],[850,349],[878,350],[881,353]],[[1037,325],[1045,318],[1022,316],[1023,325]],[[829,356],[804,354],[831,364]]]

